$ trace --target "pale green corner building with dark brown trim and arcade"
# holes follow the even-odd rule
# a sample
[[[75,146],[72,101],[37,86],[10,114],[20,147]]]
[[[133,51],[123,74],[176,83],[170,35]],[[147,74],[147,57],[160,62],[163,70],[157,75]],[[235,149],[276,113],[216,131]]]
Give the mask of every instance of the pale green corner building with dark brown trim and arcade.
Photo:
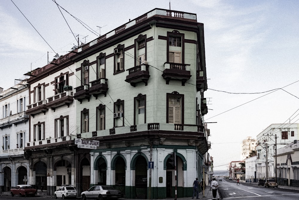
[[[176,185],[177,197],[192,196],[208,151],[204,29],[196,14],[156,8],[71,60],[77,137],[100,142],[90,150],[90,184],[111,185],[125,198],[175,197]]]

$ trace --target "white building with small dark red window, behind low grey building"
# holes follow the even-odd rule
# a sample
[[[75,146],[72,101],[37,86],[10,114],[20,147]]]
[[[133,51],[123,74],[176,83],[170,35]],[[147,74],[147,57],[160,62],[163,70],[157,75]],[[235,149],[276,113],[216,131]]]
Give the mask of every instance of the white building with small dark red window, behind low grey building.
[[[298,127],[298,123],[271,124],[257,135],[257,179],[276,177],[274,163],[275,149],[282,148],[295,139],[298,139]],[[267,164],[266,160],[268,161]],[[268,175],[266,175],[266,166],[268,166]]]

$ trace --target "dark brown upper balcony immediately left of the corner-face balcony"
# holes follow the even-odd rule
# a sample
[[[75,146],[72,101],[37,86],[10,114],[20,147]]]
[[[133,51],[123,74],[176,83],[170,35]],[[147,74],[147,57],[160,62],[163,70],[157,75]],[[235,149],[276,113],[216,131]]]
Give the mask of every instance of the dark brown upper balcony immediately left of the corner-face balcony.
[[[141,64],[136,67],[128,69],[129,75],[126,76],[126,82],[130,83],[133,87],[136,83],[144,82],[147,85],[147,80],[149,79],[149,65]]]

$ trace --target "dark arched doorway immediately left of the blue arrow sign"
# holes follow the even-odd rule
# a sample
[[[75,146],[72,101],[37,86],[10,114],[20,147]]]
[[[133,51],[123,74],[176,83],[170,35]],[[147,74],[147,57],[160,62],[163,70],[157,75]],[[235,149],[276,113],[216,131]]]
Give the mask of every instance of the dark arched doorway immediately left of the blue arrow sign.
[[[137,199],[147,199],[147,160],[140,155],[135,163],[135,193]]]

